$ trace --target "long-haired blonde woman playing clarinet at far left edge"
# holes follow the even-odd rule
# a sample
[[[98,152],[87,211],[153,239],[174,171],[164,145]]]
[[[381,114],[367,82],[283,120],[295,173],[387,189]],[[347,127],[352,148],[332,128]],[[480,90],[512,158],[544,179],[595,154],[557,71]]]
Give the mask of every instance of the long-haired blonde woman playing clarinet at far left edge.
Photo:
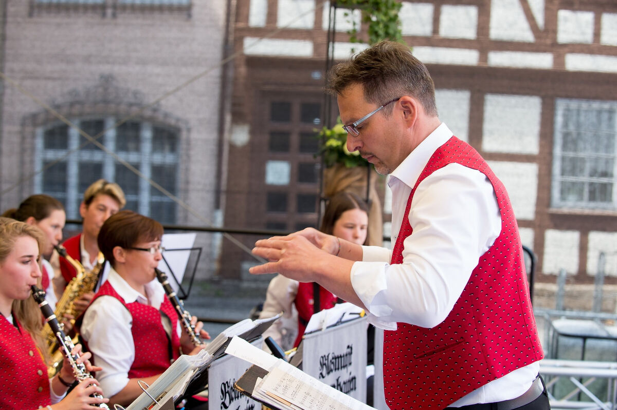
[[[47,376],[41,310],[31,296],[31,287],[41,285],[43,244],[39,228],[0,217],[0,408],[92,409],[90,404],[108,401],[96,380],[84,380],[67,395],[75,382],[68,360],[56,376]],[[73,353],[88,371],[100,370],[89,363],[90,353],[81,355],[80,345]]]

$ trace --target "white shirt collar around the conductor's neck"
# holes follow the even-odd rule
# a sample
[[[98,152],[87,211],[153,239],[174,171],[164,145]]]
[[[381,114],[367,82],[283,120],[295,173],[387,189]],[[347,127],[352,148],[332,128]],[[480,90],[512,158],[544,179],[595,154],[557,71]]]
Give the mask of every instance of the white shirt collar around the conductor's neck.
[[[408,187],[413,188],[420,177],[420,173],[426,167],[428,160],[431,159],[437,148],[444,145],[452,137],[452,131],[444,124],[439,124],[435,131],[431,132],[399,166],[388,175],[387,184],[392,188],[395,181],[400,181]]]

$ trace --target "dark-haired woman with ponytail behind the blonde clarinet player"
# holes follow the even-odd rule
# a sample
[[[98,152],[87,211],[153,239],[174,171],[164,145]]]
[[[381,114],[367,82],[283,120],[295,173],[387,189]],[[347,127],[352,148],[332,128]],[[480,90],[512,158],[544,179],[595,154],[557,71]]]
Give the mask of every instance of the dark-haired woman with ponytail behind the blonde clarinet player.
[[[64,223],[67,220],[64,206],[56,198],[49,195],[30,195],[19,204],[19,207],[5,211],[2,216],[28,223],[28,225],[34,225],[45,234],[46,241],[43,249],[41,249],[43,254],[43,259],[41,260],[41,271],[43,273],[41,286],[46,293],[45,299],[52,310],[55,310],[56,303],[62,297],[62,293],[56,294],[54,292],[52,280],[54,279],[55,271],[49,260],[52,258],[52,255],[57,257],[54,246],[62,240],[62,228],[64,228]],[[70,326],[70,323],[67,321],[65,325]]]

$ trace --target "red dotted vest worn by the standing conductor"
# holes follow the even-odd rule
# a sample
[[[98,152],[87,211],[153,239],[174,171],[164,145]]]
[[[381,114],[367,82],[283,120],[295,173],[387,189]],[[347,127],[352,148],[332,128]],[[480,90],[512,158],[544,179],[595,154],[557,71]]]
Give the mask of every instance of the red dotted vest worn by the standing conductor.
[[[452,312],[432,329],[399,323],[384,334],[384,386],[392,409],[441,409],[476,388],[542,359],[529,300],[518,226],[508,194],[486,161],[456,137],[437,148],[407,201],[391,263],[402,263],[412,234],[407,215],[418,184],[447,164],[476,169],[491,181],[502,219]]]

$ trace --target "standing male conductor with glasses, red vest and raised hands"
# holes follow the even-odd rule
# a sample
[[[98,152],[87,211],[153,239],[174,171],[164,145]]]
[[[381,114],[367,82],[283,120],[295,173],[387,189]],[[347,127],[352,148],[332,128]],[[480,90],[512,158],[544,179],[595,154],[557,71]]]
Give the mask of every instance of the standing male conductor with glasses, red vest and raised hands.
[[[549,409],[510,199],[437,116],[433,79],[381,42],[329,74],[347,131],[392,190],[389,251],[307,228],[257,241],[251,273],[316,281],[384,332],[392,409]]]

